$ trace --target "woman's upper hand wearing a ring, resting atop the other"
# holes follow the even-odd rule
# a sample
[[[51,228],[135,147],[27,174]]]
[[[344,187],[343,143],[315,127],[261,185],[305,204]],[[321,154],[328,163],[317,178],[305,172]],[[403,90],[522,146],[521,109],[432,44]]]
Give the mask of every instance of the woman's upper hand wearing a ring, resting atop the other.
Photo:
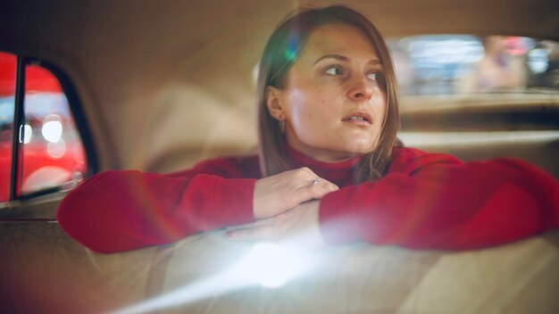
[[[297,205],[338,190],[338,186],[320,179],[311,169],[300,168],[256,180],[254,218],[263,219],[289,211]]]

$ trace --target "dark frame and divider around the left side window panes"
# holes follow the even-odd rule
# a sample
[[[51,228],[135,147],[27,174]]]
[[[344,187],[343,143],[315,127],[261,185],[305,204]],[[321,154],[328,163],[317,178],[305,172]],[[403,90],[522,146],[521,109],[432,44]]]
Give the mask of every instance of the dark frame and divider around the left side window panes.
[[[63,194],[69,191],[69,186],[53,186],[45,189],[31,192],[29,194],[17,195],[17,186],[21,185],[18,170],[21,168],[23,159],[23,150],[20,143],[21,136],[24,136],[23,128],[25,120],[25,70],[28,66],[40,66],[45,70],[50,71],[60,83],[63,93],[68,100],[71,116],[75,121],[75,126],[78,130],[81,144],[83,146],[86,159],[87,168],[85,178],[88,178],[98,171],[98,161],[96,157],[96,149],[92,140],[91,132],[88,128],[88,120],[81,109],[78,93],[74,87],[71,79],[66,73],[52,62],[48,62],[43,58],[33,57],[25,54],[17,54],[9,50],[0,48],[0,51],[7,54],[13,54],[17,58],[16,62],[16,76],[15,76],[15,95],[14,95],[14,115],[13,115],[13,143],[12,143],[12,162],[10,174],[10,192],[8,200],[0,202],[0,221],[1,220],[54,220],[52,218],[40,217],[33,210],[29,211],[24,209],[25,204],[34,206],[33,202],[37,200],[40,208],[44,207],[45,201],[54,200],[59,201],[62,199]],[[62,194],[61,194],[62,193]],[[50,195],[50,196],[49,196]],[[43,212],[43,211],[41,211]],[[38,216],[38,217],[37,217]]]

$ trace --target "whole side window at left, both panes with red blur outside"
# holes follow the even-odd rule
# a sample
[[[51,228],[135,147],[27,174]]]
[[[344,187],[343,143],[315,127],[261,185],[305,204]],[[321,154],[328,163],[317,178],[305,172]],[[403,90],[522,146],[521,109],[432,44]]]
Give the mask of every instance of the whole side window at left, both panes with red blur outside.
[[[16,75],[17,56],[0,53],[0,202],[71,187],[84,178],[88,165],[67,96],[53,72],[32,61],[22,62]],[[16,81],[23,89],[22,119],[17,122]],[[11,91],[11,92],[10,92]],[[14,123],[18,125],[15,128]],[[18,154],[13,159],[13,144]],[[5,148],[5,149],[4,149]],[[12,172],[15,170],[15,179]],[[10,195],[11,186],[13,194]]]

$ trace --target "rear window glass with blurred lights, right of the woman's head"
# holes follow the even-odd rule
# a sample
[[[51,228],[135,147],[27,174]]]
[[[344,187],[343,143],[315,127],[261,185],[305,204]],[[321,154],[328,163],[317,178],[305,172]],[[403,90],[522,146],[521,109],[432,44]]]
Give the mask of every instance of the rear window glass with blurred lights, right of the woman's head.
[[[464,35],[388,39],[404,95],[559,91],[559,44]]]

